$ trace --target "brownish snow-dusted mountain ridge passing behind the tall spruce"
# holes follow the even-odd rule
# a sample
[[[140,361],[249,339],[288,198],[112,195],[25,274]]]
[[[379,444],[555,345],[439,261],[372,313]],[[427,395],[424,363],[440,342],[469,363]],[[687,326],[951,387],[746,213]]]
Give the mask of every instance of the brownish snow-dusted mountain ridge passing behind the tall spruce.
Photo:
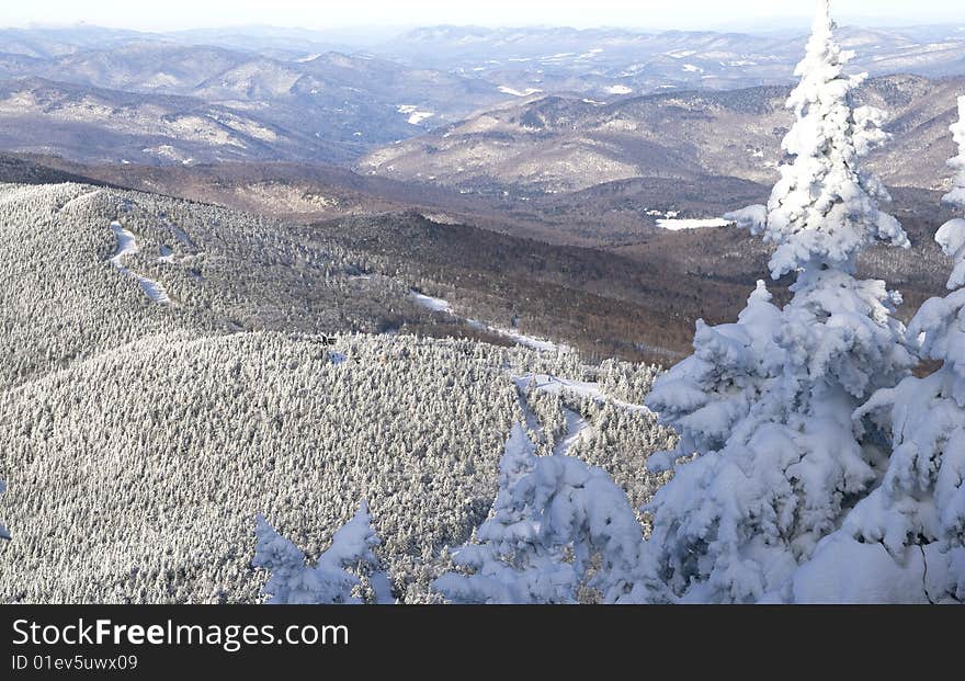
[[[603,104],[532,98],[384,147],[360,172],[465,191],[560,193],[638,177],[770,183],[791,122],[785,87],[688,91]],[[965,78],[872,79],[861,99],[888,114],[893,139],[871,166],[897,185],[942,189],[947,135]],[[899,160],[900,159],[900,160]]]

